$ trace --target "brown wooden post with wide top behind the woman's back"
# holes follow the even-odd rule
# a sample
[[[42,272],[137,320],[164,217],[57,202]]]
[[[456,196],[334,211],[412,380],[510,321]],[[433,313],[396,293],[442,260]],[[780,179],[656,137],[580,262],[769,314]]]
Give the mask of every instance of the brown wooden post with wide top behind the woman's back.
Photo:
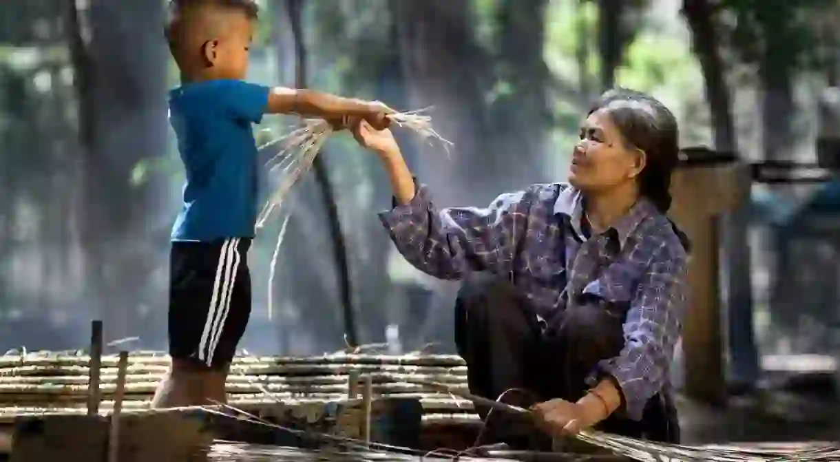
[[[696,153],[684,160],[671,185],[671,216],[691,240],[690,308],[683,323],[684,391],[690,398],[722,403],[724,374],[718,219],[748,200],[749,166]]]

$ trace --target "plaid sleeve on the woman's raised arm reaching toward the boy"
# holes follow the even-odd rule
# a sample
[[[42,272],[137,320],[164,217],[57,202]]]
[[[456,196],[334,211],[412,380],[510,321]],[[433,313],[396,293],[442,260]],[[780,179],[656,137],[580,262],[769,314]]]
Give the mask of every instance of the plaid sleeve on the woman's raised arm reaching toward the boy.
[[[527,229],[525,192],[496,197],[490,207],[434,206],[428,186],[417,183],[411,202],[380,213],[396,249],[418,270],[440,279],[467,271],[511,269],[517,240]]]

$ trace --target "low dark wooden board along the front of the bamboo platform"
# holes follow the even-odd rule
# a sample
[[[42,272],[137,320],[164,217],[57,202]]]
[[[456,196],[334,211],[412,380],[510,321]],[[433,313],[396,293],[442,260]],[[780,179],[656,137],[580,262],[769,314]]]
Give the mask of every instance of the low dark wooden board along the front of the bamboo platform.
[[[216,440],[322,450],[350,439],[416,446],[421,412],[417,400],[358,399],[277,403],[249,412],[254,417],[247,419],[223,407],[146,410],[123,416],[31,415],[13,423],[11,461],[47,461],[73,454],[91,461],[180,462],[207,452]],[[116,425],[123,431],[115,433]]]

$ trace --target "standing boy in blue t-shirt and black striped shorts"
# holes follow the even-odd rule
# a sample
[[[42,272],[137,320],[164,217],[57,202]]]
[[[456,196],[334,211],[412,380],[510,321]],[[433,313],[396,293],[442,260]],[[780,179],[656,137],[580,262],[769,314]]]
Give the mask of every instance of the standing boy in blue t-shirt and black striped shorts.
[[[384,128],[391,112],[377,102],[242,81],[257,18],[253,0],[172,0],[170,7],[166,38],[181,71],[170,120],[186,186],[171,239],[172,364],[153,407],[226,401],[229,365],[251,310],[247,253],[258,208],[252,123],[264,113],[297,113]]]

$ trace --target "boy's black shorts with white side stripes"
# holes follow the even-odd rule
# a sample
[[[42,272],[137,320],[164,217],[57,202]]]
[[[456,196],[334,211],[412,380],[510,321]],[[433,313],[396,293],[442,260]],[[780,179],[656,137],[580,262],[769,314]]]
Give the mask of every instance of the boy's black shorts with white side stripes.
[[[173,242],[169,353],[221,369],[230,364],[251,313],[251,239]]]

